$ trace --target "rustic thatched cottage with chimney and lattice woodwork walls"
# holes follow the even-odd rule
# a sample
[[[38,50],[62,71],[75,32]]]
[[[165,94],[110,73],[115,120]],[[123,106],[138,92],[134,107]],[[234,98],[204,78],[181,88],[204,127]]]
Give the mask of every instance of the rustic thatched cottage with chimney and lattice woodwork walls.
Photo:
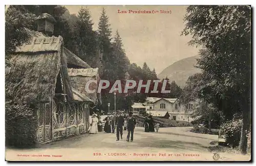
[[[68,74],[69,66],[91,67],[63,46],[61,36],[48,37],[54,21],[44,22],[47,17],[45,14],[38,21],[41,32],[26,29],[31,40],[10,55],[10,67],[6,68],[6,96],[36,109],[38,143],[86,132],[89,105],[96,103],[72,88]]]

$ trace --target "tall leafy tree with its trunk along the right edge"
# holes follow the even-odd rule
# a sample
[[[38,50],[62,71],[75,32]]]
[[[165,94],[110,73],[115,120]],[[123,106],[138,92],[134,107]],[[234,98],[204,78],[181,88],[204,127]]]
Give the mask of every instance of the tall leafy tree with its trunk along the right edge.
[[[189,6],[184,35],[203,46],[198,66],[203,69],[202,96],[219,105],[237,103],[242,112],[240,149],[246,154],[251,104],[251,9],[249,6]],[[227,103],[230,101],[230,103]]]

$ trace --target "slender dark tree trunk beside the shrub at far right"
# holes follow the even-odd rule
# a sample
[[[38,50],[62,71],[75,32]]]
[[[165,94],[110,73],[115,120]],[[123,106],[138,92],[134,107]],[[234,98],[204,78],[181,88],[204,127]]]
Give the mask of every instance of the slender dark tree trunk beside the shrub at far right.
[[[248,110],[243,111],[243,124],[241,128],[241,139],[240,139],[240,151],[241,154],[245,155],[247,153],[247,131],[249,127],[249,118],[248,118]]]

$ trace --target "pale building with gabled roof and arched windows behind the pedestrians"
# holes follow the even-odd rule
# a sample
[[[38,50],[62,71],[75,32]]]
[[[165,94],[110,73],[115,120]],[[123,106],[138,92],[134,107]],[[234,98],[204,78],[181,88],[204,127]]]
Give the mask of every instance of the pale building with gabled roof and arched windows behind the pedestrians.
[[[142,104],[142,103],[141,103]],[[193,113],[193,103],[189,103],[187,106],[187,110],[185,106],[179,103],[179,99],[167,99],[167,98],[146,98],[146,102],[142,105],[145,106],[146,111],[157,111],[157,112],[165,112],[169,113],[169,119],[176,121],[187,121],[191,122],[194,118],[190,117],[191,113]],[[165,114],[158,113],[158,114]]]

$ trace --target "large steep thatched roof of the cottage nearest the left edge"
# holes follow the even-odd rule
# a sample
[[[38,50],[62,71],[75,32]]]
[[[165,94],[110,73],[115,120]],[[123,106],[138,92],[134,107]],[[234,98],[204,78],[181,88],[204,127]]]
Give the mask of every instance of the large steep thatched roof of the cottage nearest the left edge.
[[[67,98],[73,100],[66,57],[61,55],[62,37],[32,38],[17,48],[6,70],[6,93],[15,102],[48,103],[55,95],[56,78],[63,74]]]

